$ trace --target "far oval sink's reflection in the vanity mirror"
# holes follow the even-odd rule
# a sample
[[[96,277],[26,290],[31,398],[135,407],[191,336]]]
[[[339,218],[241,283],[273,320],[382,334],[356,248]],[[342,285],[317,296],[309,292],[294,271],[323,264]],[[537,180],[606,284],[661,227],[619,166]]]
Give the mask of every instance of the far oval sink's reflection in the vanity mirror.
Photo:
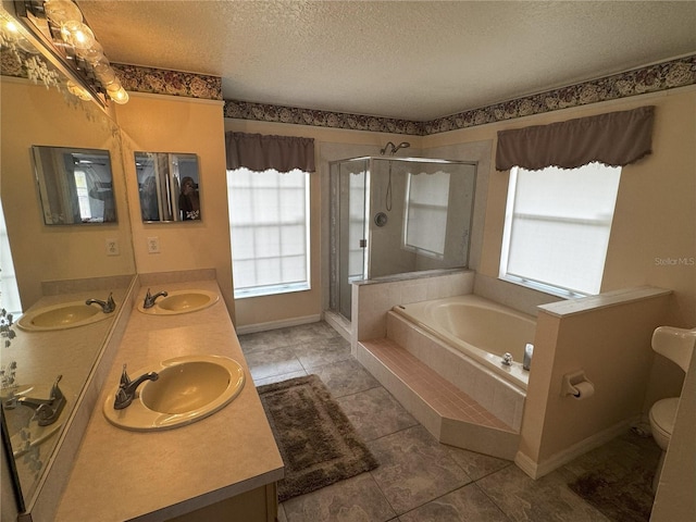
[[[20,318],[17,326],[27,332],[48,332],[85,326],[112,316],[100,307],[72,301],[30,310]]]

